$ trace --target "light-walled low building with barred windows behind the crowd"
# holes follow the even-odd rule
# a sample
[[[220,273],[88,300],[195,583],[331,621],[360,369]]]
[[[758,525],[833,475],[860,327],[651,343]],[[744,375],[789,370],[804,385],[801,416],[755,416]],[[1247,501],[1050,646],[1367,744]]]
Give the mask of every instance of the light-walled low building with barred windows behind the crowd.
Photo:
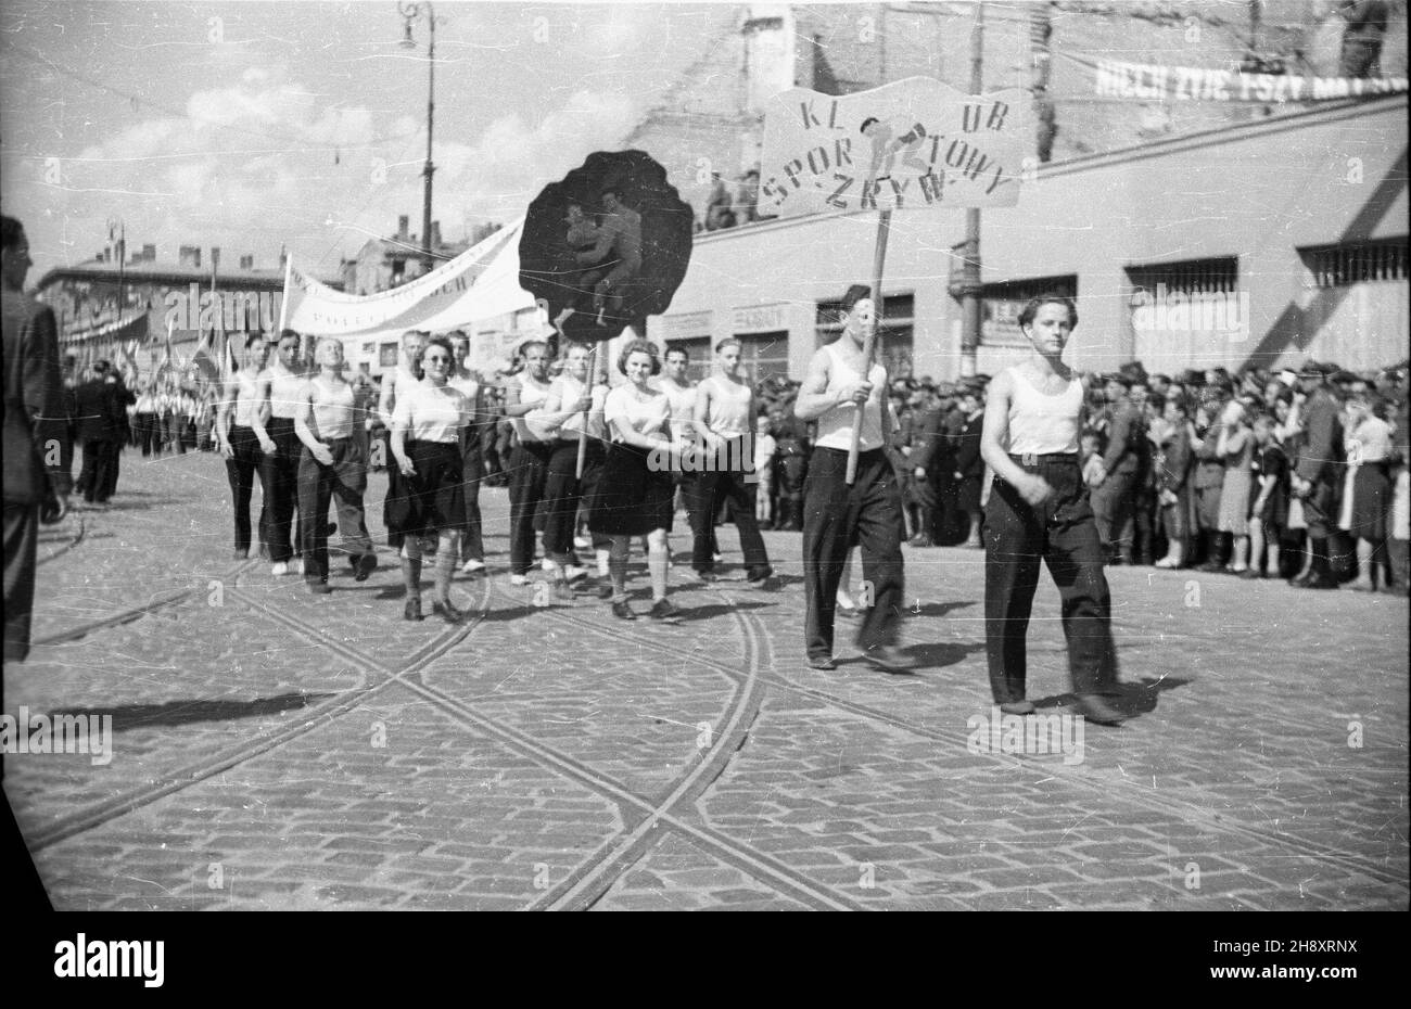
[[[1026,351],[1024,299],[1078,299],[1070,360],[1149,371],[1309,357],[1407,358],[1407,99],[1338,103],[1041,167],[1017,207],[981,216],[976,371]],[[648,323],[693,358],[742,340],[755,378],[801,378],[827,309],[869,282],[876,215],[806,216],[696,236],[670,312]],[[882,357],[895,375],[961,375],[951,296],[958,210],[897,212]]]

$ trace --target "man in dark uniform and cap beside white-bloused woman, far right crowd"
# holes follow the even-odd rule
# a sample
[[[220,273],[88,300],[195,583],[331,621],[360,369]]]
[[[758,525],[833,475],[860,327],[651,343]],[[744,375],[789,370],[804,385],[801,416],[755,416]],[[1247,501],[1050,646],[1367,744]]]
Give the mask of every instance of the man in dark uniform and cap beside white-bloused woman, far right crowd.
[[[1343,442],[1342,408],[1326,387],[1336,371],[1331,364],[1308,361],[1298,373],[1298,387],[1308,401],[1302,408],[1304,443],[1298,453],[1292,490],[1304,505],[1312,563],[1308,573],[1294,579],[1298,588],[1336,588],[1328,557],[1328,539],[1338,528],[1338,493],[1342,490]]]

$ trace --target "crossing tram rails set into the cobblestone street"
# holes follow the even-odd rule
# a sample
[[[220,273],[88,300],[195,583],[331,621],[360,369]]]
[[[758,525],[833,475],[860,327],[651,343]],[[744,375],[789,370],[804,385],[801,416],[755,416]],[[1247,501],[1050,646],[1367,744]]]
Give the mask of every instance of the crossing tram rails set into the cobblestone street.
[[[248,566],[250,564],[247,562],[241,566],[241,569]],[[51,639],[47,641],[75,639],[76,636],[92,634],[93,629],[99,629],[100,627],[130,622],[131,620],[141,618],[154,608],[172,605],[195,591],[195,588],[183,590],[179,594],[172,594],[171,598],[157,600],[147,607],[138,607],[133,611],[126,611],[124,614],[95,621],[92,625],[83,625],[82,628],[75,628],[73,631],[63,632],[61,635],[52,635]],[[720,593],[720,588],[715,591]],[[601,622],[590,621],[586,617],[576,615],[569,608],[546,607],[540,610],[539,612],[543,612],[550,618],[607,639],[631,642],[635,646],[669,655],[682,662],[690,662],[693,665],[721,672],[735,684],[731,700],[720,717],[718,724],[721,725],[721,731],[714,734],[714,745],[704,752],[698,761],[694,761],[686,773],[665,786],[665,797],[652,799],[618,780],[614,780],[611,776],[593,769],[577,758],[564,754],[549,744],[535,739],[526,732],[477,713],[471,703],[452,697],[443,690],[432,687],[425,682],[423,673],[426,667],[432,662],[452,652],[459,644],[470,636],[481,621],[484,621],[491,598],[495,596],[495,583],[491,579],[485,580],[481,608],[473,621],[442,632],[408,656],[405,662],[399,663],[385,663],[368,656],[357,648],[333,638],[319,627],[255,598],[246,588],[237,587],[231,594],[236,600],[260,610],[271,620],[354,663],[354,666],[363,670],[365,676],[374,677],[375,682],[370,682],[354,690],[343,691],[333,700],[310,708],[310,717],[306,718],[303,724],[291,727],[289,730],[281,731],[267,739],[261,739],[255,747],[251,747],[250,744],[229,747],[205,761],[193,762],[192,765],[168,775],[164,782],[155,786],[130,790],[121,796],[114,796],[109,800],[90,806],[89,809],[71,817],[65,817],[54,824],[48,824],[42,831],[38,831],[30,838],[32,850],[38,851],[68,837],[73,837],[75,834],[100,827],[117,817],[150,806],[171,794],[179,793],[181,790],[214,775],[257,759],[281,745],[308,735],[317,728],[326,727],[333,720],[356,710],[358,706],[365,703],[368,697],[385,691],[394,684],[401,684],[413,694],[433,704],[437,710],[463,727],[490,737],[502,745],[529,756],[535,762],[553,769],[556,773],[566,775],[618,806],[624,821],[626,823],[625,828],[604,841],[593,855],[580,861],[564,879],[559,881],[552,889],[546,890],[539,899],[536,899],[531,905],[533,909],[591,907],[594,903],[601,900],[601,898],[618,879],[622,878],[622,875],[631,871],[631,868],[646,857],[665,837],[673,834],[684,837],[700,850],[741,869],[775,892],[803,903],[806,907],[858,909],[862,907],[862,905],[838,893],[835,889],[799,874],[772,855],[759,852],[722,831],[700,823],[700,814],[697,813],[696,816],[690,816],[689,807],[691,807],[696,800],[706,793],[710,785],[725,772],[731,758],[745,742],[749,727],[763,704],[768,687],[789,690],[834,706],[856,717],[885,723],[899,731],[944,744],[947,747],[964,747],[967,739],[967,734],[964,731],[948,731],[928,725],[919,725],[889,711],[845,697],[838,697],[837,694],[823,689],[794,683],[773,672],[769,635],[763,631],[759,617],[744,610],[734,608],[731,611],[745,644],[744,669],[741,669],[739,663],[701,655],[697,651],[672,644],[660,636],[618,631],[611,625],[604,625]],[[502,591],[499,594],[509,598]],[[728,597],[724,597],[724,594],[722,598],[725,598],[727,603],[729,601]],[[1007,755],[995,755],[995,759],[1000,759],[1015,769],[1023,769],[1030,773],[1061,776],[1071,785],[1095,793],[1102,793],[1103,796],[1110,794],[1113,786],[1116,786],[1127,802],[1136,803],[1146,810],[1171,816],[1185,823],[1194,823],[1212,831],[1235,834],[1245,840],[1254,840],[1264,844],[1278,845],[1285,850],[1294,850],[1302,857],[1332,864],[1343,869],[1352,869],[1371,876],[1379,882],[1404,885],[1404,879],[1401,876],[1379,868],[1370,859],[1363,859],[1355,855],[1329,854],[1295,837],[1273,834],[1249,828],[1242,824],[1229,823],[1222,820],[1216,813],[1192,803],[1175,800],[1170,796],[1151,796],[1132,782],[1120,779],[1105,779],[1101,782],[1091,780],[1081,773],[1053,762],[1044,762],[1041,766],[1034,766],[1033,761],[1023,761]]]

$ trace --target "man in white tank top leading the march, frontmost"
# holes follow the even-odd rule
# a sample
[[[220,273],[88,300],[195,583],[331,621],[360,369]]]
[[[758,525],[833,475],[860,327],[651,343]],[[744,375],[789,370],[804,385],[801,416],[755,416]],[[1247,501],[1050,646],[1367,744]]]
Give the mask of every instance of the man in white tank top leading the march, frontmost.
[[[981,456],[995,471],[985,511],[985,653],[995,703],[1033,714],[1024,699],[1026,635],[1038,562],[1062,597],[1068,670],[1088,721],[1119,725],[1105,696],[1118,691],[1103,550],[1078,466],[1082,380],[1062,363],[1078,308],[1040,295],[1019,313],[1033,353],[989,384]]]

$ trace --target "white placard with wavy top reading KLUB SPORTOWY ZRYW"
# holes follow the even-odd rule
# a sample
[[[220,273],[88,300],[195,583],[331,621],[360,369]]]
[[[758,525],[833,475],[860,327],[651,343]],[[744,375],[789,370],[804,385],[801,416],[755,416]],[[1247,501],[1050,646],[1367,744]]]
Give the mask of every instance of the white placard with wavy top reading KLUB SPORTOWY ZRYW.
[[[793,87],[765,109],[759,200],[780,217],[1015,206],[1030,148],[1019,89],[907,78],[855,95]]]

